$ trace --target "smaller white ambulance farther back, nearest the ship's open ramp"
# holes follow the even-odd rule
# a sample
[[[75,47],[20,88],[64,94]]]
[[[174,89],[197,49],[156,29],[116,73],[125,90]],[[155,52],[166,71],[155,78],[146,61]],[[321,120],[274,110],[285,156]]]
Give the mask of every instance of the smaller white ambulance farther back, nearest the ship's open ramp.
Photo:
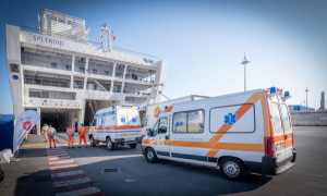
[[[135,148],[142,139],[137,107],[113,106],[97,111],[88,137],[93,147],[107,143],[109,150],[118,145]]]

